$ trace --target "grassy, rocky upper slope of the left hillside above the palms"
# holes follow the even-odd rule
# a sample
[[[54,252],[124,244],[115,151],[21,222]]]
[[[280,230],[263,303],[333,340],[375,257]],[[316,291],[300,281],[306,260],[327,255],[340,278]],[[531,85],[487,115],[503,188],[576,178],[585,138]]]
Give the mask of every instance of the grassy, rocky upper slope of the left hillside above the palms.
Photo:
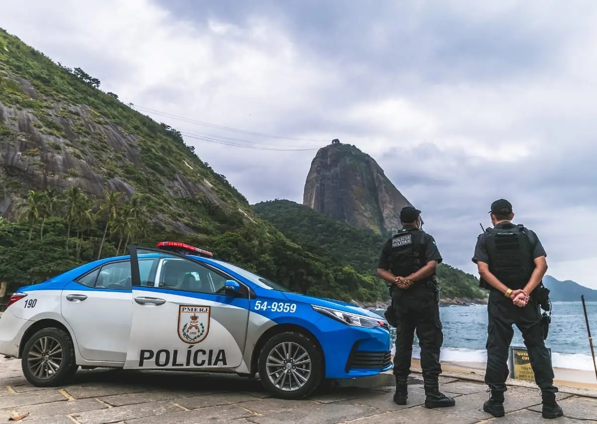
[[[179,132],[81,75],[0,30],[0,217],[16,218],[28,190],[73,186],[147,196],[154,222],[183,231],[198,205],[250,215]]]

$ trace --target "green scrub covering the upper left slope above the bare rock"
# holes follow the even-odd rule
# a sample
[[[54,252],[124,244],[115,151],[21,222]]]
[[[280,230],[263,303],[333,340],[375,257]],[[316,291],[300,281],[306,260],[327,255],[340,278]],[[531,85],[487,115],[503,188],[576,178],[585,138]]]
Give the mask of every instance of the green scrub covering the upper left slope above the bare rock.
[[[29,84],[33,90],[28,89]],[[41,126],[38,131],[49,141],[42,147],[31,146],[24,153],[41,171],[45,165],[42,153],[67,151],[77,159],[91,159],[87,162],[94,163],[94,172],[106,179],[118,177],[137,191],[150,194],[153,209],[198,231],[202,230],[201,220],[187,219],[186,205],[179,203],[181,197],[175,196],[173,202],[168,193],[181,190],[173,184],[177,176],[202,185],[207,179],[221,200],[247,205],[245,197],[223,175],[193,154],[195,149],[184,144],[179,131],[136,112],[119,101],[118,95],[101,91],[99,85],[99,79],[80,68],[57,65],[0,29],[0,103],[26,110],[39,120],[33,125]],[[127,151],[115,150],[108,137],[114,129],[131,150],[139,149],[143,166],[132,162]],[[19,136],[29,138],[7,123],[0,123],[0,137],[5,143],[15,143]],[[10,177],[5,188],[21,194],[30,188],[15,180]]]

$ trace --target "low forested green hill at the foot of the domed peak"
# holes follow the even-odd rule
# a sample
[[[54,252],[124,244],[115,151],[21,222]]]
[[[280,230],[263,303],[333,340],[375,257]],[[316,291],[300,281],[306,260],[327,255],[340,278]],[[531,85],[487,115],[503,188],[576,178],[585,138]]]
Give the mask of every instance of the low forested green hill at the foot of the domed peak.
[[[376,275],[377,261],[386,239],[373,231],[329,218],[290,200],[257,203],[253,210],[305,249],[328,255],[340,264],[352,266],[358,273]],[[479,289],[479,281],[474,276],[450,265],[439,264],[437,275],[444,299],[487,296]]]

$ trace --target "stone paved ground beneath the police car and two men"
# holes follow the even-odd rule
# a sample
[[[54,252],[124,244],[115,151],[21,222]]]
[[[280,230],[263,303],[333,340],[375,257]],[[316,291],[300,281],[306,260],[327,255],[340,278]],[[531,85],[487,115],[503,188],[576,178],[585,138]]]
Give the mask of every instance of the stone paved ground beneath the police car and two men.
[[[428,410],[421,406],[424,391],[418,375],[411,378],[409,404],[398,406],[392,402],[390,374],[364,380],[360,387],[353,383],[316,392],[307,400],[283,401],[269,397],[259,380],[204,373],[79,370],[69,386],[36,388],[24,379],[20,360],[0,358],[0,422],[8,422],[13,414],[28,413],[21,422],[597,423],[595,392],[572,389],[565,393],[561,389],[558,399],[565,417],[543,420],[538,389],[511,386],[504,404],[506,417],[496,419],[482,410],[487,399],[485,385],[457,377],[441,378],[441,390],[456,397],[456,406]]]

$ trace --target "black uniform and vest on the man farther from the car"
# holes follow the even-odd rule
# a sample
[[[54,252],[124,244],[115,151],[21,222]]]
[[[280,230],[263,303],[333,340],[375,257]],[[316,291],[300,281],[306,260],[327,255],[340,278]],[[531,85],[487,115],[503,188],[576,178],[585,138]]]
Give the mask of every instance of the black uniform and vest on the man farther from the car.
[[[540,256],[547,254],[534,231],[522,225],[501,222],[479,235],[472,260],[475,263],[487,263],[490,272],[501,283],[516,290],[524,289],[535,268],[534,259]],[[527,346],[535,382],[541,388],[543,400],[555,403],[558,389],[553,385],[553,369],[544,344],[543,320],[533,294],[527,305],[518,307],[484,280],[480,285],[490,290],[485,383],[490,387],[492,397],[503,402],[508,376],[508,352],[514,334],[512,324],[516,324]]]

